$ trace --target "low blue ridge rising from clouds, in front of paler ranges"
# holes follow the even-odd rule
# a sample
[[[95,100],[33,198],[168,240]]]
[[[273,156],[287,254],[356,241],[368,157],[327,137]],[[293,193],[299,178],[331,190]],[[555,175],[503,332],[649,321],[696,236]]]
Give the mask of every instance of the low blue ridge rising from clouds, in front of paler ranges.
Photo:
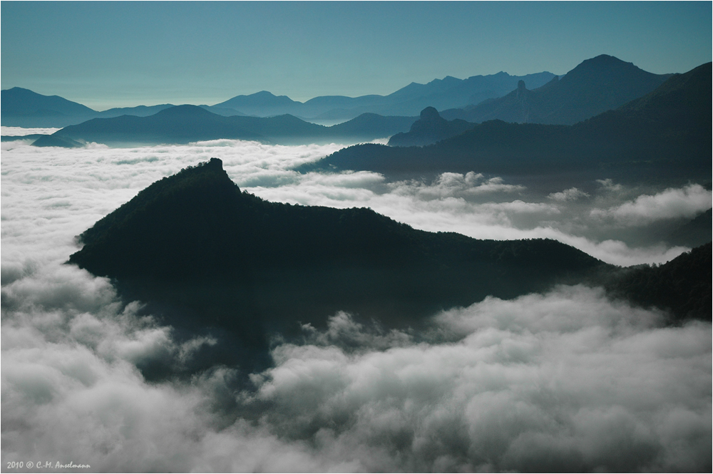
[[[148,117],[123,115],[96,118],[58,130],[53,137],[77,142],[115,144],[190,143],[221,138],[259,140],[281,145],[346,143],[385,138],[407,130],[412,117],[365,114],[346,123],[325,127],[292,115],[245,117],[217,115],[197,105],[178,105]]]

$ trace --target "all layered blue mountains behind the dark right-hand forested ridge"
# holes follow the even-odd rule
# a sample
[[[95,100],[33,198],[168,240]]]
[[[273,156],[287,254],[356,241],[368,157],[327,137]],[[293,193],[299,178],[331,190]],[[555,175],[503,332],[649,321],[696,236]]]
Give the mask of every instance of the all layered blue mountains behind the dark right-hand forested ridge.
[[[411,83],[389,96],[321,96],[301,103],[262,91],[212,106],[181,105],[174,109],[176,106],[170,104],[140,105],[103,112],[57,96],[12,88],[2,91],[2,120],[4,125],[67,125],[51,138],[39,138],[39,146],[80,146],[85,141],[186,143],[215,138],[282,144],[309,140],[359,143],[388,137],[392,146],[423,146],[454,138],[473,129],[473,123],[489,120],[572,125],[645,96],[670,76],[647,73],[632,63],[601,55],[583,61],[561,79],[550,73],[498,73],[462,81],[447,77],[428,84]],[[530,90],[525,81],[534,87],[543,85]],[[500,93],[506,95],[493,98]],[[484,96],[491,98],[480,101]],[[462,101],[471,105],[447,108]],[[201,114],[199,108],[210,114]],[[439,114],[438,109],[443,112]],[[406,112],[411,115],[402,115]],[[421,113],[419,120],[416,113]],[[308,123],[304,117],[353,120],[326,128]],[[108,121],[93,120],[96,118]]]

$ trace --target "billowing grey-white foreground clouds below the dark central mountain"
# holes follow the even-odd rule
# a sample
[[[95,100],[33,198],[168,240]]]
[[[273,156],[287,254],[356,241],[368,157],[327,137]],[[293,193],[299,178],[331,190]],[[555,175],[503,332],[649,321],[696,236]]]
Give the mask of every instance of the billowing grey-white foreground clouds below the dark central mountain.
[[[347,314],[234,390],[234,369],[146,383],[178,344],[73,268],[3,288],[3,463],[101,471],[677,470],[711,467],[711,326],[561,287],[384,332]],[[210,341],[208,342],[210,343]]]

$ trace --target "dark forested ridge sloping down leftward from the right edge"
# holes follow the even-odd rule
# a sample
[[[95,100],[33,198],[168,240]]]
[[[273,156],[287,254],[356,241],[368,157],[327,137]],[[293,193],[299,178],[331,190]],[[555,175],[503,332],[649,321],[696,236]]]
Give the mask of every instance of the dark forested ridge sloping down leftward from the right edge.
[[[423,148],[355,145],[311,167],[386,175],[492,172],[709,180],[711,63],[668,79],[652,93],[575,125],[492,120]]]

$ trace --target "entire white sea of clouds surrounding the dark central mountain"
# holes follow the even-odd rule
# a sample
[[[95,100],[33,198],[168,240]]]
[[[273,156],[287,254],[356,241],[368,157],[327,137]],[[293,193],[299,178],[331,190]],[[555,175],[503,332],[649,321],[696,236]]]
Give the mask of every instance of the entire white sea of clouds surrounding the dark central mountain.
[[[180,373],[215,340],[178,338],[140,316],[140,302],[122,304],[107,279],[63,262],[96,220],[212,157],[267,200],[371,207],[478,238],[550,237],[620,265],[684,252],[636,236],[711,207],[699,185],[606,176],[595,192],[536,195],[477,170],[432,182],[292,171],[341,146],[2,143],[3,469],[711,470],[711,325],[667,327],[660,311],[596,288],[489,298],[435,314],[418,335],[340,312],[327,329],[304,326],[299,344],[275,339],[275,364],[248,386],[226,366],[146,381],[137,366],[168,361]]]

